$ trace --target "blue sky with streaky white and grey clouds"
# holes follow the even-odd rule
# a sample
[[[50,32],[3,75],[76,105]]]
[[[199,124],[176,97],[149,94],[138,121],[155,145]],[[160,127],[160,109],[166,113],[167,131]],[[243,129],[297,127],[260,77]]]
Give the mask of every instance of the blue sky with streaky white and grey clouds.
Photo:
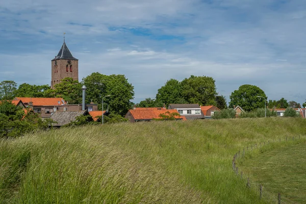
[[[50,85],[65,32],[79,80],[124,74],[135,103],[206,75],[227,102],[251,84],[302,104],[305,18],[304,0],[0,0],[0,81]]]

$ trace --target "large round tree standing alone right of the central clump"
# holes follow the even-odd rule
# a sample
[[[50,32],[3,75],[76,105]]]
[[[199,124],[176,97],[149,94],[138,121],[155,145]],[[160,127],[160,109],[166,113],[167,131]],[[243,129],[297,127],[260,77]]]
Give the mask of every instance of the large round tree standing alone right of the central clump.
[[[240,106],[245,111],[264,108],[264,99],[257,96],[262,96],[267,99],[265,92],[259,87],[248,84],[242,85],[230,95],[231,101],[229,107],[234,107],[234,105]]]

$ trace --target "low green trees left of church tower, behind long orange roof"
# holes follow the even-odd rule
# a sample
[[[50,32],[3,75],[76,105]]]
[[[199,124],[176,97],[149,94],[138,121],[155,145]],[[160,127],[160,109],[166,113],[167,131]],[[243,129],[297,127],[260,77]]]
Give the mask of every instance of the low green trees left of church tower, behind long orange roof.
[[[20,84],[14,95],[16,97],[45,97],[45,91],[49,90],[49,85]]]

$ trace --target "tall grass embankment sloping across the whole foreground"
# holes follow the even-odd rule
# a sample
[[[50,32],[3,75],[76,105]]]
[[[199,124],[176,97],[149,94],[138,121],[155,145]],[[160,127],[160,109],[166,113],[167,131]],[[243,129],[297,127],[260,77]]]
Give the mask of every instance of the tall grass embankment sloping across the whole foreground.
[[[159,121],[0,140],[4,203],[266,203],[232,170],[245,146],[306,135],[301,118]]]

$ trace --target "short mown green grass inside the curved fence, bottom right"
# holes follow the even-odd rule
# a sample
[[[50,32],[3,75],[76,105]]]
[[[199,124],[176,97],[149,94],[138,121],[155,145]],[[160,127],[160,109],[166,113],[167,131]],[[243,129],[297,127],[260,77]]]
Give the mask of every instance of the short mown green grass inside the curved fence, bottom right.
[[[268,195],[281,193],[284,200],[303,203],[306,200],[305,147],[303,141],[262,151],[257,157],[243,160],[239,166],[251,180],[262,184]]]

